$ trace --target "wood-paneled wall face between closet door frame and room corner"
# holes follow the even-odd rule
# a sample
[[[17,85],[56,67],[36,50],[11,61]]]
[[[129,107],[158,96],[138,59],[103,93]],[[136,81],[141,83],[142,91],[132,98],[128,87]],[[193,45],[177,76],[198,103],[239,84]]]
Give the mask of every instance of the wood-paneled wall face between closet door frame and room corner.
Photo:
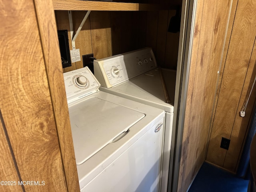
[[[232,0],[198,0],[178,191],[186,192],[206,158],[218,70]]]

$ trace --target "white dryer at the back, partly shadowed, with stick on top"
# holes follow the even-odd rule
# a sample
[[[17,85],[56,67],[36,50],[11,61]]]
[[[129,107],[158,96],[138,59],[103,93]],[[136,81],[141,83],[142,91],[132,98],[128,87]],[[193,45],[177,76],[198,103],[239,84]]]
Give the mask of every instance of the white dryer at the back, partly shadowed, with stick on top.
[[[94,75],[101,84],[100,90],[165,111],[161,191],[166,192],[169,168],[172,168],[170,152],[176,71],[164,69],[162,74],[167,81],[170,103],[166,103],[162,76],[151,48],[94,60]]]

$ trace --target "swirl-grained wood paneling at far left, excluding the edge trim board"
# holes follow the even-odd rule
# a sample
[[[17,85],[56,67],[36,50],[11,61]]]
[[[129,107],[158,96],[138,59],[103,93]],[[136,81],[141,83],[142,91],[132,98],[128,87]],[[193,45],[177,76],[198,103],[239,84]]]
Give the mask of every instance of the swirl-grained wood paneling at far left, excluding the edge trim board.
[[[6,131],[1,138],[1,153],[10,160],[1,172],[13,174],[1,180],[14,180],[17,186],[19,180],[44,181],[44,185],[18,187],[19,191],[66,191],[45,68],[48,57],[42,50],[34,0],[1,1],[0,10],[4,13],[0,14],[1,136],[3,129]],[[6,146],[6,140],[12,148]],[[8,165],[10,172],[6,171]]]

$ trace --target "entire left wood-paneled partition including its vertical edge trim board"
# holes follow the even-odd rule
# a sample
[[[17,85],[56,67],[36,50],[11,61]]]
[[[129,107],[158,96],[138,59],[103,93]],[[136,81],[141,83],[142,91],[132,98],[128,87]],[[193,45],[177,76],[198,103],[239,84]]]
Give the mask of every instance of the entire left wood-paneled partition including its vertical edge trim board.
[[[52,1],[1,5],[0,190],[79,191]]]

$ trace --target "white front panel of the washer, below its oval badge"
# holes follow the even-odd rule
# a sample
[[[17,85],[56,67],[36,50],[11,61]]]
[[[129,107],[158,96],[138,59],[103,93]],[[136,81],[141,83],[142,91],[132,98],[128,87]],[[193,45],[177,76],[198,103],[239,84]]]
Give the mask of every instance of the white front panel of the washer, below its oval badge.
[[[158,192],[164,133],[163,127],[155,132],[158,123],[82,188],[81,192]]]

